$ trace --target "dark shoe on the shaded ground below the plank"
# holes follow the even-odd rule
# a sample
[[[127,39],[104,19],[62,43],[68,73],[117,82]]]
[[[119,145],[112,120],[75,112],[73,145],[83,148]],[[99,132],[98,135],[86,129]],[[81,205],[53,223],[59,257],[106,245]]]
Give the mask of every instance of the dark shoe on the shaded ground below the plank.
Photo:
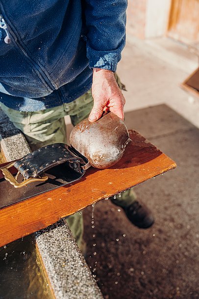
[[[137,200],[123,209],[128,219],[139,228],[149,228],[154,222],[152,212]]]

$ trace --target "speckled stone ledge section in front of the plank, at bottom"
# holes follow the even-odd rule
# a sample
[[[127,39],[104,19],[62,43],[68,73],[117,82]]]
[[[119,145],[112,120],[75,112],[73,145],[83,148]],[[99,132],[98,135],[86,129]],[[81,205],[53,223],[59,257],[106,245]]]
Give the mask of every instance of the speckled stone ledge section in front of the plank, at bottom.
[[[65,219],[35,238],[56,299],[103,299]]]

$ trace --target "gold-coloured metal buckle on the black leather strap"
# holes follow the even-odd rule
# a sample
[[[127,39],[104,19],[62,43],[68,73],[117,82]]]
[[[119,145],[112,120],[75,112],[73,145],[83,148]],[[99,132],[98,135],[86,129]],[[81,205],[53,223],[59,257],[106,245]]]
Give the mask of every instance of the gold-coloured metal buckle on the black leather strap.
[[[41,177],[41,178],[29,178],[27,180],[24,180],[22,181],[21,183],[18,182],[18,177],[19,177],[19,174],[20,172],[18,171],[17,175],[14,177],[12,175],[12,173],[8,170],[8,168],[14,166],[14,163],[15,162],[11,162],[5,166],[2,166],[0,167],[0,170],[2,171],[4,177],[5,177],[5,180],[8,181],[11,185],[13,185],[15,188],[21,188],[21,187],[24,187],[24,186],[27,186],[28,184],[32,183],[32,182],[44,182],[44,181],[47,181],[48,180],[48,176],[44,176],[44,177]]]

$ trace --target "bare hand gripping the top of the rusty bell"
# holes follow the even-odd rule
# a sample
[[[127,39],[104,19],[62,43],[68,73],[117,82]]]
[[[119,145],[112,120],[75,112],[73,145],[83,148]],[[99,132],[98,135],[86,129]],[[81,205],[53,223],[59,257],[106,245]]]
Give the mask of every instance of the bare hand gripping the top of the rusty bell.
[[[113,72],[103,69],[93,70],[92,95],[94,106],[89,115],[89,121],[98,120],[103,110],[106,109],[124,120],[125,99]]]

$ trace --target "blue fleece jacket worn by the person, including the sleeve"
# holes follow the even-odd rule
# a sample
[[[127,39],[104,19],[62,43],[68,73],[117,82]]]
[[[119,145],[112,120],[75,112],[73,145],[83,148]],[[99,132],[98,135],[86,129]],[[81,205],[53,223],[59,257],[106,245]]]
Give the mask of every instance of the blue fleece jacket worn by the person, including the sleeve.
[[[59,106],[91,87],[93,67],[115,71],[125,44],[126,5],[0,0],[0,102],[21,111]]]

